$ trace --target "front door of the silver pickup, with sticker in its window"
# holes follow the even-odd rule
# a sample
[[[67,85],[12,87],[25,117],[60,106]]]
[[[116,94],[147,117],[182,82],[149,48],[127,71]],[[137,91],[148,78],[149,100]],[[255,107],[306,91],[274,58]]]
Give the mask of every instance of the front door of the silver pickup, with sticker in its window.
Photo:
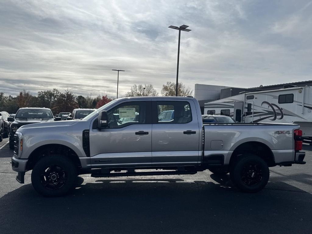
[[[151,166],[151,101],[123,101],[107,110],[108,128],[90,129],[92,168]],[[97,119],[93,120],[97,121]]]

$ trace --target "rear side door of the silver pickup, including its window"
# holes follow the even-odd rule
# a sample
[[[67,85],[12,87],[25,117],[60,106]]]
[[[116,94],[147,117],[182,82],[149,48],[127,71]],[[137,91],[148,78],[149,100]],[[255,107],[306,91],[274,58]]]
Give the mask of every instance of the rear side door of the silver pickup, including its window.
[[[159,119],[163,111],[169,119]],[[196,165],[199,154],[199,125],[193,100],[152,101],[152,165]]]

